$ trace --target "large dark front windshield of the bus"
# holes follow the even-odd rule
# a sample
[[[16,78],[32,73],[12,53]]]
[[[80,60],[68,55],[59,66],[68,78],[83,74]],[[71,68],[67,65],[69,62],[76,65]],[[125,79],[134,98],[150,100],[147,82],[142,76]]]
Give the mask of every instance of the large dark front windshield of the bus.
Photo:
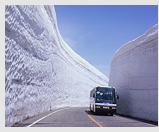
[[[97,88],[96,101],[116,102],[115,89],[113,88]]]

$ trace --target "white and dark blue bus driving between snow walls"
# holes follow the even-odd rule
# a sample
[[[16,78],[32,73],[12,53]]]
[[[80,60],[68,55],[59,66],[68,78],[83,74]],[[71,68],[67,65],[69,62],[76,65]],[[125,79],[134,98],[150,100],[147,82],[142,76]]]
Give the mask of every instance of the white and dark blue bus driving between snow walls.
[[[117,109],[116,99],[119,99],[119,96],[115,87],[95,87],[90,91],[90,111],[94,114],[104,112],[113,116]]]

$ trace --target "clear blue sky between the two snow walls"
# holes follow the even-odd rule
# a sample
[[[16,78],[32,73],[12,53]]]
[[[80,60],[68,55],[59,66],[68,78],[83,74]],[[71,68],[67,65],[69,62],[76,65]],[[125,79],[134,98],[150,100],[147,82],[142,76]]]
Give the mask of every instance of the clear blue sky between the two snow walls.
[[[64,41],[109,78],[113,54],[158,23],[158,5],[55,5]]]

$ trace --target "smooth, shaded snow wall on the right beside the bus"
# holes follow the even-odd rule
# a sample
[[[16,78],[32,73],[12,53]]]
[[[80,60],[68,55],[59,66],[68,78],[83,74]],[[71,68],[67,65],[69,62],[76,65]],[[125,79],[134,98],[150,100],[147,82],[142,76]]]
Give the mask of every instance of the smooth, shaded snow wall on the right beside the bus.
[[[158,121],[158,24],[115,52],[109,85],[119,94],[117,113]]]

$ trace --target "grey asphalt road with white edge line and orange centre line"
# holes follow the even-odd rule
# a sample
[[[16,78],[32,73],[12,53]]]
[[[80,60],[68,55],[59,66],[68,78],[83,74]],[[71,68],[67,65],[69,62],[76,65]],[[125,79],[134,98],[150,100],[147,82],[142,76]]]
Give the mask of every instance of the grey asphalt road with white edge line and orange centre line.
[[[157,124],[124,117],[94,115],[87,107],[67,107],[49,111],[15,124],[14,127],[156,127]]]

